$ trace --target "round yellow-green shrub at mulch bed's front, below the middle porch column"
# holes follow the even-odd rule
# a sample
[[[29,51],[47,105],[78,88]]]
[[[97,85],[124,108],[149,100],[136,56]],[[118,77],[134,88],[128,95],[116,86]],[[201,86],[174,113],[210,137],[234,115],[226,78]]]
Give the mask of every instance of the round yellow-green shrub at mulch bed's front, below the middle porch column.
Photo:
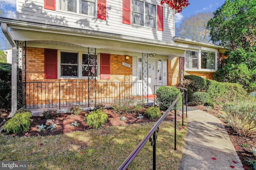
[[[108,115],[101,110],[96,110],[90,112],[84,119],[88,126],[92,125],[93,127],[98,128],[107,123]]]

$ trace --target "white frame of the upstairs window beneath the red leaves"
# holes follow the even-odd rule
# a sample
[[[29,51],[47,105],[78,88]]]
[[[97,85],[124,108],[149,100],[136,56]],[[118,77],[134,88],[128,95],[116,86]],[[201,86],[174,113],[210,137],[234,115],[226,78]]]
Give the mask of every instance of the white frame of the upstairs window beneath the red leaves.
[[[143,3],[143,13],[139,13],[139,12],[134,12],[134,11],[132,11],[132,0],[131,0],[131,25],[136,25],[136,26],[144,26],[144,27],[148,27],[148,28],[151,28],[151,29],[156,29],[157,28],[157,5],[156,4],[150,4],[150,3],[148,3],[148,2],[145,2],[145,1],[143,1],[143,0],[136,0],[136,1],[140,1],[140,2],[142,2]],[[155,6],[155,9],[156,9],[156,16],[155,16],[155,23],[154,23],[154,25],[155,25],[155,27],[150,27],[150,26],[147,26],[146,25],[146,4],[150,4],[150,5],[153,5],[153,6]],[[132,21],[132,18],[133,18],[133,15],[132,15],[132,13],[138,13],[138,14],[142,14],[142,24],[136,24],[136,23],[133,23]],[[150,16],[150,15],[148,15],[148,16]]]

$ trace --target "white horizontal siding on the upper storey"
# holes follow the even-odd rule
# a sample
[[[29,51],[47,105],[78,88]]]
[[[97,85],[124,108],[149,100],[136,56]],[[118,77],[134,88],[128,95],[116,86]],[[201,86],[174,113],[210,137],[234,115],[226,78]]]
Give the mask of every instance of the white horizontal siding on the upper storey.
[[[149,2],[150,4],[156,6],[160,5],[160,0],[154,2],[145,2]],[[158,31],[157,29],[154,29],[152,27],[123,24],[122,0],[106,1],[106,20],[100,20],[96,16],[97,1],[95,1],[96,11],[94,12],[95,15],[93,16],[91,16],[90,14],[81,14],[78,7],[76,8],[76,12],[60,10],[58,7],[59,0],[56,0],[56,11],[44,9],[44,0],[19,0],[17,3],[19,20],[79,29],[89,29],[92,31],[116,33],[120,35],[154,39],[158,41],[173,42],[172,37],[174,37],[174,12],[166,5],[163,5],[164,31]],[[77,0],[76,6],[79,6],[79,3],[80,2]]]

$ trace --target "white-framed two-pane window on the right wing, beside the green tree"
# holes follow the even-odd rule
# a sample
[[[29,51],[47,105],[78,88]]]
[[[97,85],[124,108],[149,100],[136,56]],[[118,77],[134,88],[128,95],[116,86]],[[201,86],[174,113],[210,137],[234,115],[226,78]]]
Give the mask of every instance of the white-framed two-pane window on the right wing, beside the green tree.
[[[216,70],[216,51],[188,51],[185,56],[186,69]]]

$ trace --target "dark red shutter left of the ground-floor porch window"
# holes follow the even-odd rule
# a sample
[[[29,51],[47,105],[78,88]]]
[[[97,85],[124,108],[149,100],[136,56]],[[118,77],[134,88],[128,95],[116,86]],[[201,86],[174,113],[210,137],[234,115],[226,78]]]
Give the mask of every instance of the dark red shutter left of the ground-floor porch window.
[[[56,49],[44,51],[44,78],[58,78],[57,75],[57,52]]]

